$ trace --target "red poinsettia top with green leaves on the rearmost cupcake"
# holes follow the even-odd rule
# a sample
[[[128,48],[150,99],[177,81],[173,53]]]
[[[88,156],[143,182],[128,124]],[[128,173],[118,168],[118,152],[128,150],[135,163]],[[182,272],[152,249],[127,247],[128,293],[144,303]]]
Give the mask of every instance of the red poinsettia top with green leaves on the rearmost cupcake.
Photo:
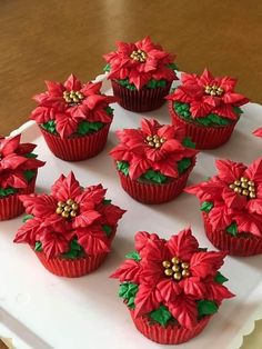
[[[135,43],[119,41],[117,47],[117,51],[103,56],[108,79],[118,80],[131,90],[165,87],[167,81],[177,79],[174,56],[153,43],[150,37]]]

